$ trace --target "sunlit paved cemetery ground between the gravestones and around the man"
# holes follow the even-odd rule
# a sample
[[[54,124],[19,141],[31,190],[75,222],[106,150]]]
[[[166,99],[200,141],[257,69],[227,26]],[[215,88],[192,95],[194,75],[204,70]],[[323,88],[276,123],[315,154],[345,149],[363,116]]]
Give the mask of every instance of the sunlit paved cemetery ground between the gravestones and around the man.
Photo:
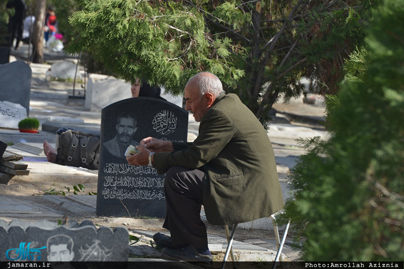
[[[12,55],[14,54],[17,60],[25,60],[23,53],[24,46],[20,51],[12,51]],[[45,51],[45,61],[48,64],[63,60],[65,60],[63,53]],[[100,111],[87,111],[84,109],[83,99],[69,98],[73,95],[73,82],[49,80],[45,75],[49,67],[46,64],[31,64],[29,116],[38,118],[42,128],[44,123],[49,122],[89,127],[98,126],[99,128]],[[83,87],[83,84],[77,83],[75,95],[83,96]],[[130,86],[128,85],[129,90]],[[295,139],[314,136],[327,137],[327,131],[321,124],[324,121],[324,106],[319,104],[319,100],[313,96],[307,102],[298,99],[289,105],[277,103],[274,108],[276,114],[273,115],[268,134],[273,143],[278,174],[284,199],[286,199],[290,196],[287,179],[289,169],[293,167],[298,155],[304,153],[304,149]],[[197,130],[198,124],[194,122],[193,117],[189,117],[188,141],[192,141],[196,137]],[[55,146],[55,133],[44,131],[41,128],[38,134],[31,136],[23,135],[15,130],[0,129],[0,140],[10,144],[8,150],[24,155],[27,161],[24,160],[23,162],[28,164],[28,170],[30,170],[28,176],[14,176],[8,184],[0,184],[0,204],[5,205],[5,201],[7,201],[9,205],[8,209],[0,209],[0,219],[7,222],[15,219],[26,221],[46,219],[54,222],[74,220],[79,223],[90,220],[96,226],[122,226],[140,239],[139,242],[130,246],[129,257],[161,258],[160,251],[152,247],[151,236],[156,232],[166,232],[162,228],[163,220],[139,218],[136,216],[136,212],[129,212],[131,218],[95,216],[96,196],[86,194],[97,191],[97,171],[43,162],[44,153],[35,153],[34,151],[42,148],[44,139]],[[18,146],[18,143],[22,143],[22,146],[28,146],[28,149],[21,145]],[[28,161],[30,158],[31,160]],[[40,162],[35,162],[40,158],[42,158]],[[83,185],[85,189],[75,195],[73,194],[73,186],[78,184]],[[70,188],[70,192],[68,188]],[[47,195],[62,191],[66,193],[66,196]],[[10,208],[14,210],[10,210]],[[220,248],[220,251],[214,250],[214,260],[220,260],[224,255],[224,251],[221,250],[225,249],[224,228],[205,223],[207,224],[210,244],[212,243],[214,248],[218,246]],[[233,248],[236,257],[244,261],[271,261],[274,258],[273,254],[276,253],[276,243],[272,228],[268,228],[271,226],[270,223],[271,221],[267,219],[264,222],[253,222],[241,226],[235,234],[236,243]],[[299,255],[290,247],[292,236],[293,234],[288,234],[283,253],[286,257],[285,260],[295,261],[298,260]],[[219,240],[217,237],[221,239]]]

